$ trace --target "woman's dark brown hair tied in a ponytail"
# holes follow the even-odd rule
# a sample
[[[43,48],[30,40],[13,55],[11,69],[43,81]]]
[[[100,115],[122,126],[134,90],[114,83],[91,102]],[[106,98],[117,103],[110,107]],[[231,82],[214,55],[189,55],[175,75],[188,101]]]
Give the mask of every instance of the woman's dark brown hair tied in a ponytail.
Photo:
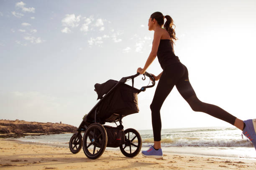
[[[155,12],[150,15],[150,18],[151,18],[151,21],[155,18],[157,23],[160,26],[164,25],[164,29],[166,29],[169,32],[172,42],[173,40],[178,40],[178,38],[176,37],[176,32],[174,31],[175,25],[173,24],[172,17],[170,17],[169,15],[164,16],[160,12]],[[166,18],[165,23],[164,23],[164,18]],[[174,28],[172,28],[172,25],[174,25]]]

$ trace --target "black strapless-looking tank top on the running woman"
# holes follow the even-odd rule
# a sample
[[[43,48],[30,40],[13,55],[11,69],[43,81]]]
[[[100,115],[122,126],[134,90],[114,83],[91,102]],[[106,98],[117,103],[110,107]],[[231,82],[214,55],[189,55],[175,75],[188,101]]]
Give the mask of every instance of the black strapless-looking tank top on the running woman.
[[[179,57],[174,54],[173,42],[169,39],[160,40],[157,58],[163,70],[164,67],[173,63],[181,63]]]

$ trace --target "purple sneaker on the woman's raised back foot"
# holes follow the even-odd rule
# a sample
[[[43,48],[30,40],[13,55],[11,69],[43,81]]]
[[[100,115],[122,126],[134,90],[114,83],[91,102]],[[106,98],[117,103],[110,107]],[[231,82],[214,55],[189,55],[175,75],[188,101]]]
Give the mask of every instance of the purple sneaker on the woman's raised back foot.
[[[243,135],[251,141],[256,150],[256,119],[249,119],[243,121],[246,124],[246,127],[243,129]]]

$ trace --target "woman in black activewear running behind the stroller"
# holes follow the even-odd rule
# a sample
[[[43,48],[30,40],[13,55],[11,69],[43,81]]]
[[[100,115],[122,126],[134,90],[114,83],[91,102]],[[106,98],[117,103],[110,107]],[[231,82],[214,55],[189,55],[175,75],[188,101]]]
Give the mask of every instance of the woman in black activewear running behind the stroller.
[[[166,23],[164,24],[164,18]],[[162,26],[164,25],[164,29]],[[152,127],[154,134],[154,145],[148,150],[142,151],[145,157],[162,158],[161,150],[161,117],[160,109],[164,100],[172,91],[174,85],[188,102],[192,110],[196,112],[205,112],[213,117],[230,123],[243,131],[245,135],[253,143],[256,149],[256,119],[242,121],[237,117],[226,112],[222,108],[201,102],[189,82],[188,70],[179,58],[174,54],[173,40],[177,40],[173,26],[173,20],[169,15],[163,15],[160,12],[151,14],[148,19],[148,30],[154,30],[154,40],[152,50],[143,68],[139,67],[137,72],[144,74],[148,66],[154,61],[156,56],[163,69],[158,76],[153,75],[155,80],[159,80],[154,94],[153,101],[150,105],[152,116]],[[174,25],[175,26],[175,25]]]

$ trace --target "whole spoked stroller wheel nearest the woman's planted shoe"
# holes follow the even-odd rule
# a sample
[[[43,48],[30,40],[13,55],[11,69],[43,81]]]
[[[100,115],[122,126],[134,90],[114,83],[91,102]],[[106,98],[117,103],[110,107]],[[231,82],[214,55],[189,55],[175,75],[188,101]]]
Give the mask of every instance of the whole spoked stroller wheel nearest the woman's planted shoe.
[[[126,157],[135,157],[141,151],[141,135],[132,128],[126,129],[124,133],[125,144],[120,145],[120,150]]]

